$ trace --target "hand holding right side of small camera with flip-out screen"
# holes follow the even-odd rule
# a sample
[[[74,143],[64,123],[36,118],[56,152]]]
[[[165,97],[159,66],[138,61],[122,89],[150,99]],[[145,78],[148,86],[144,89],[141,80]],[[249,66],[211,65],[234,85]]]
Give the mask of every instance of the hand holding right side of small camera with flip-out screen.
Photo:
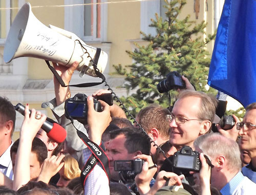
[[[135,177],[135,183],[138,187],[140,194],[145,194],[150,191],[150,182],[157,171],[157,166],[153,163],[152,157],[148,155],[137,155],[134,159],[144,160],[142,170]]]

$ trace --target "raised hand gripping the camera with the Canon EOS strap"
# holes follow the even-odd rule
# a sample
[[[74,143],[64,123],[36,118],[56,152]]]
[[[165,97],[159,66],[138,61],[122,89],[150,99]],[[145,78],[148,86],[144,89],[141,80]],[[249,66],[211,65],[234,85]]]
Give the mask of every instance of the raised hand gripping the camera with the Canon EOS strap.
[[[109,104],[101,100],[99,100],[99,102],[103,107],[102,112],[96,112],[94,110],[94,102],[93,102],[92,96],[88,96],[87,98],[87,104],[88,104],[87,122],[88,122],[88,125],[90,126],[90,131],[88,135],[89,135],[89,139],[98,145],[100,145],[102,134],[104,133],[106,127],[108,127],[111,122]]]

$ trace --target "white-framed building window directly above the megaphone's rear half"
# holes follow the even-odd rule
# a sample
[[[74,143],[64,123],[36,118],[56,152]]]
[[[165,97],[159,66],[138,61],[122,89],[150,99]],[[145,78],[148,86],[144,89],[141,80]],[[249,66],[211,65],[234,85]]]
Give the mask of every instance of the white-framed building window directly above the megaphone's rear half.
[[[65,29],[84,41],[106,41],[108,7],[104,2],[106,0],[80,0],[81,6],[65,8]],[[72,3],[78,2],[65,0],[66,5]]]

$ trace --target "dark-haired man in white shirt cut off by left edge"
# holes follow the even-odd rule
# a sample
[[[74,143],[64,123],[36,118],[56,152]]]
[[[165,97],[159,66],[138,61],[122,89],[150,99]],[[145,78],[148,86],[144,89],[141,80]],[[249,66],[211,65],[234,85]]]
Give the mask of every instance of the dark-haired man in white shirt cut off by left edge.
[[[13,179],[10,148],[14,131],[16,112],[12,103],[0,97],[0,171]]]

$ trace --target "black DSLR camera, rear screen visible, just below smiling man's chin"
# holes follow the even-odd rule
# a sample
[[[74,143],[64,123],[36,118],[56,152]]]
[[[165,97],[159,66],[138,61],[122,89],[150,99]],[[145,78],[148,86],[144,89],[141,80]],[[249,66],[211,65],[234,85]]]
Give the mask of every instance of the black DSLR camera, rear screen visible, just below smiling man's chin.
[[[198,151],[193,151],[191,147],[185,145],[174,154],[173,166],[181,170],[198,172],[201,169],[199,155]]]

